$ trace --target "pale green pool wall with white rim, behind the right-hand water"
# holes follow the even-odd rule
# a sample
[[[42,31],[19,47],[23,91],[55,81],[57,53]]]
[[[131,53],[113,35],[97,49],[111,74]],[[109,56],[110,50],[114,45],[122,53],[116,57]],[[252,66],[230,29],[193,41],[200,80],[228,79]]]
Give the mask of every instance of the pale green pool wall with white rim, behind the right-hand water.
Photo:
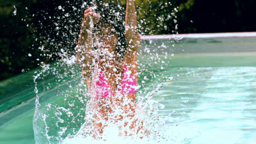
[[[170,51],[172,67],[255,67],[256,32],[206,33],[177,35],[147,35],[142,37],[145,47],[159,46],[158,53]],[[165,44],[171,49],[162,49]]]

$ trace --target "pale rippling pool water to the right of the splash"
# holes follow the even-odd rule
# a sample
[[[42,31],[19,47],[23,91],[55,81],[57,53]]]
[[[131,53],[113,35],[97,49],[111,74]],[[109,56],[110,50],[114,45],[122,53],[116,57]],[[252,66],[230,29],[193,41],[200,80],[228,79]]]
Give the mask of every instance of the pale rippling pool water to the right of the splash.
[[[182,68],[170,73],[176,76],[155,99],[165,105],[162,115],[177,111],[171,122],[200,131],[193,143],[256,141],[255,67]]]

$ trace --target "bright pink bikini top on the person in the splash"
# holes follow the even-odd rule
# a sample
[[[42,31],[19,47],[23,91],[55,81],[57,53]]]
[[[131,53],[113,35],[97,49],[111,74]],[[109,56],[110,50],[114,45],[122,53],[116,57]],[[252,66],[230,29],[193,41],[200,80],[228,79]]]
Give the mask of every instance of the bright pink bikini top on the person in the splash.
[[[118,91],[121,94],[133,94],[137,92],[137,82],[131,72],[124,65],[124,74],[121,84],[118,86]],[[99,80],[96,82],[96,97],[106,98],[114,95],[112,88],[105,79],[102,71],[100,71]]]

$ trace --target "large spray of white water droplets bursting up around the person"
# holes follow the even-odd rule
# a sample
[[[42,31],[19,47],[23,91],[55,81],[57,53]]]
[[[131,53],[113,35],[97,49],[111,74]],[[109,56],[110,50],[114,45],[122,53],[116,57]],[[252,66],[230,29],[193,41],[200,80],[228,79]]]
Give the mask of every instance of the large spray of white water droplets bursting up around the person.
[[[150,1],[145,1],[148,3]],[[50,32],[43,32],[49,35],[40,41],[38,49],[42,50],[46,59],[53,59],[55,62],[40,62],[42,70],[34,75],[36,92],[36,110],[34,112],[33,127],[36,143],[181,143],[184,141],[180,132],[175,129],[176,125],[170,120],[176,113],[171,111],[166,115],[159,115],[159,109],[165,106],[154,99],[155,95],[162,91],[165,82],[171,81],[172,76],[166,71],[170,67],[173,56],[172,47],[174,41],[161,43],[156,40],[142,40],[142,48],[139,55],[139,81],[136,93],[136,111],[124,113],[120,107],[109,107],[112,111],[108,121],[102,120],[105,125],[100,140],[97,140],[97,132],[94,127],[95,115],[97,115],[98,103],[96,90],[88,89],[82,71],[75,64],[74,47],[78,40],[79,31],[74,29],[81,25],[81,21],[75,21],[74,17],[82,17],[83,10],[88,7],[97,7],[96,2],[82,2],[75,5],[67,1],[69,5],[56,7],[58,16],[45,17],[51,19],[55,25]],[[74,4],[74,5],[72,5]],[[106,7],[108,3],[105,3]],[[170,7],[171,3],[163,3],[162,9]],[[120,10],[124,6],[118,4]],[[112,11],[113,15],[119,16],[118,11]],[[145,28],[149,21],[143,17],[146,12],[138,8],[138,28],[141,34],[153,34],[149,28]],[[172,13],[162,14],[158,17],[159,29],[167,29],[164,21],[173,20],[175,23],[172,32],[177,33],[176,8]],[[65,21],[63,21],[65,19]],[[80,18],[79,18],[80,20]],[[155,25],[155,24],[154,24]],[[94,51],[100,55],[102,51]],[[104,51],[103,51],[104,52]],[[106,54],[106,53],[105,53]],[[98,77],[97,62],[93,62],[92,70],[96,80]],[[96,81],[92,81],[94,85]],[[118,97],[118,94],[117,94]],[[111,99],[108,99],[111,101]],[[126,100],[129,103],[128,100]],[[125,105],[125,103],[124,103]],[[128,104],[126,104],[128,105]],[[122,121],[116,121],[117,117],[123,116]],[[139,133],[130,130],[129,126],[134,122],[143,125]],[[143,124],[142,124],[143,123]],[[96,136],[95,136],[96,135]]]

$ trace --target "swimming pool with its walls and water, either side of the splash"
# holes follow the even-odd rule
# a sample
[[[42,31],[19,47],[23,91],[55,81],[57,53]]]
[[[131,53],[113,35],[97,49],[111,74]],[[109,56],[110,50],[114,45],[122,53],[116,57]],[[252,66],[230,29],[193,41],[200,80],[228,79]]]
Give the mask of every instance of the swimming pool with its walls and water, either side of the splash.
[[[170,59],[170,67],[161,69],[158,63],[148,66],[149,70],[161,69],[159,76],[146,81],[143,77],[148,74],[143,73],[139,83],[146,81],[144,87],[147,87],[154,79],[161,79],[162,86],[153,98],[164,105],[159,109],[160,115],[175,111],[168,119],[170,127],[167,128],[172,129],[177,143],[254,143],[256,34],[249,37],[213,35],[183,35],[183,39],[176,36],[176,40],[169,39],[172,36],[145,38],[140,63],[147,64],[145,59],[150,56],[145,51],[151,47],[159,47],[159,51],[154,51],[159,55],[171,51],[174,56],[168,55],[164,60]],[[172,49],[162,49],[163,43]],[[67,71],[65,67],[56,68]],[[39,94],[48,101],[56,99],[52,96],[57,95],[59,89],[68,89],[78,81],[80,70],[73,69],[77,73],[67,73],[69,76],[59,83],[51,79],[54,75],[40,79]],[[3,143],[35,143],[32,75],[36,71],[0,82],[3,98],[0,101],[0,139]]]

